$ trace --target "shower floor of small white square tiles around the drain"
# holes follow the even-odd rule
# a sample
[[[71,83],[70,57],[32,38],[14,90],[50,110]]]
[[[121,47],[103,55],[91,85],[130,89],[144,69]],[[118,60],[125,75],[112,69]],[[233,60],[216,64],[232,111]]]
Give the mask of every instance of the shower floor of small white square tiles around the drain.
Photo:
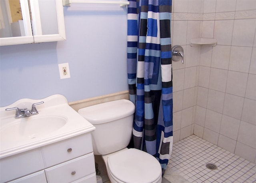
[[[216,170],[206,168],[214,163]],[[173,144],[162,183],[254,183],[256,165],[196,135]]]

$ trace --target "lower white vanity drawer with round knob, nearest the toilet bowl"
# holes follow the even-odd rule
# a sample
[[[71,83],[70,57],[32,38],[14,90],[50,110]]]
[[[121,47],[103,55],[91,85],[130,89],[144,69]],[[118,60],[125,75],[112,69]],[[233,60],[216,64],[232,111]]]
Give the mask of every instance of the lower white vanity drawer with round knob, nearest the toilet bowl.
[[[72,182],[92,173],[95,173],[93,153],[45,169],[48,183]]]

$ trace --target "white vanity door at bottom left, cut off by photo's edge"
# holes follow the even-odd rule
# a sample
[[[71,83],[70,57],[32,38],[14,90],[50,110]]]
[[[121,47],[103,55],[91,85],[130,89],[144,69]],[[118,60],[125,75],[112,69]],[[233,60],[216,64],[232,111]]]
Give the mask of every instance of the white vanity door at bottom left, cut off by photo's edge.
[[[47,183],[44,170],[32,173],[30,175],[15,179],[8,183]]]

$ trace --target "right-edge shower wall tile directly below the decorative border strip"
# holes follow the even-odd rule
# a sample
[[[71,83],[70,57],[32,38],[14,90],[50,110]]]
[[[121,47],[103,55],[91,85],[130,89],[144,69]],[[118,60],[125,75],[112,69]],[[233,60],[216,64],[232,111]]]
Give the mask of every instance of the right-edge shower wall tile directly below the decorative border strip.
[[[253,46],[255,29],[256,19],[235,20],[232,46]]]

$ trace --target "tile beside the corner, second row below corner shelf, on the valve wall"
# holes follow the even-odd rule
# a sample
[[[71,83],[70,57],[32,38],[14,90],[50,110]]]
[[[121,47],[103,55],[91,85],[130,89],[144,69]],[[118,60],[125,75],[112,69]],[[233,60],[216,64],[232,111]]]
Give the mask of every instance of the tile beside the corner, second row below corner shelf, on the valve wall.
[[[184,89],[196,86],[196,68],[197,67],[185,68]]]

